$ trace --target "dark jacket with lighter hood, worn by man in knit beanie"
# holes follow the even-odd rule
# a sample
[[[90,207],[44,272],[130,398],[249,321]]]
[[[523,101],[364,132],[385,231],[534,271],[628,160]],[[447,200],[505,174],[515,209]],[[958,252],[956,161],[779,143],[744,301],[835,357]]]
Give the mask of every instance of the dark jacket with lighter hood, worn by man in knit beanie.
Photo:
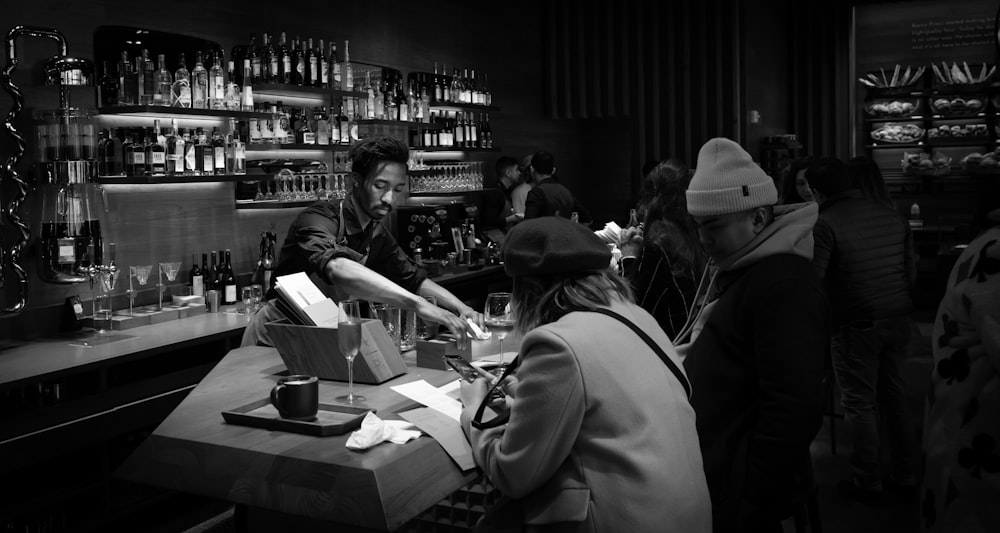
[[[718,265],[717,293],[684,366],[712,496],[714,530],[748,513],[780,520],[812,483],[830,311],[812,266],[815,204],[775,220]]]

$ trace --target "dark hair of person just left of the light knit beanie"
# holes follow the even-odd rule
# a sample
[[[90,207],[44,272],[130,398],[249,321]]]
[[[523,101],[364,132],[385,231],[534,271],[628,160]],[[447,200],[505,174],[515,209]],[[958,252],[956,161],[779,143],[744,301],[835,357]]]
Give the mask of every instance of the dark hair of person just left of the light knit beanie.
[[[667,159],[646,175],[637,206],[646,246],[656,246],[671,258],[674,275],[701,272],[705,262],[698,228],[687,211],[684,192],[690,183],[688,166]]]

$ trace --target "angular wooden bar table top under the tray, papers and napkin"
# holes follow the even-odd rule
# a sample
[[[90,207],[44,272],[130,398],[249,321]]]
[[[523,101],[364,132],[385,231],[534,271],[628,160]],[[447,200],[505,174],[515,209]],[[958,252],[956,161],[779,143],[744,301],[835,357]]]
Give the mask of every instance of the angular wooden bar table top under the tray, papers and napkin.
[[[505,347],[517,346],[516,340]],[[473,354],[496,353],[496,341]],[[441,386],[454,372],[418,368],[355,393],[381,418],[418,407],[390,387],[424,379]],[[222,411],[267,398],[285,365],[273,348],[229,352],[126,460],[116,476],[281,513],[374,530],[393,530],[474,479],[430,437],[345,448],[348,434],[313,437],[227,424]],[[319,401],[335,403],[347,384],[320,381]],[[340,529],[338,529],[340,530]]]

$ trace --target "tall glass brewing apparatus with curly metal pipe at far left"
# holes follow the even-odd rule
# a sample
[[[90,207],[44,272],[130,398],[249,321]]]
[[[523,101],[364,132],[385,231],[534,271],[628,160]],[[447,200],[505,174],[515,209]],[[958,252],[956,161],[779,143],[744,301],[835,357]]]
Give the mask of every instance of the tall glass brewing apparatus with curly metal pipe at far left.
[[[3,245],[0,286],[3,272],[9,267],[17,275],[18,296],[13,305],[0,309],[0,314],[19,313],[27,305],[28,274],[19,261],[31,233],[18,211],[28,195],[28,184],[15,168],[27,142],[14,126],[24,107],[24,95],[14,85],[12,74],[20,61],[18,39],[28,37],[52,39],[59,44],[58,55],[48,59],[43,67],[45,85],[59,88],[59,108],[35,113],[34,170],[42,194],[40,276],[53,283],[79,283],[91,280],[103,266],[100,224],[96,217],[99,210],[95,203],[100,189],[92,182],[97,167],[93,114],[73,108],[70,102],[71,87],[93,86],[93,63],[69,57],[66,38],[58,30],[15,26],[7,33],[7,65],[0,81],[14,100],[4,126],[16,146],[3,166],[0,179],[9,179],[16,185],[4,214],[6,222],[17,228],[18,235],[15,242]]]

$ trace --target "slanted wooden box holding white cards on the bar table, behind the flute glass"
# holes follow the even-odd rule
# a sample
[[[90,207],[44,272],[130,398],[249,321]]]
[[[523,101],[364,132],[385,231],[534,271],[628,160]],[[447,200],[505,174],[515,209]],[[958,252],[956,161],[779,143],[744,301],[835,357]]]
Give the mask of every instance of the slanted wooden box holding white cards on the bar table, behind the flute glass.
[[[300,326],[287,319],[267,324],[274,347],[292,374],[347,381],[347,359],[337,345],[337,328]],[[378,385],[406,373],[399,349],[378,320],[361,323],[361,349],[354,358],[354,382]]]

